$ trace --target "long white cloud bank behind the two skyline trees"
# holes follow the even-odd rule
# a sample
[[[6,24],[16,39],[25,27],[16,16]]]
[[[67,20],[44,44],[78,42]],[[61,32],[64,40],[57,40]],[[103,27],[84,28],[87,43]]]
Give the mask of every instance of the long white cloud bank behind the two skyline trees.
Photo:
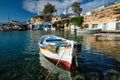
[[[38,13],[42,11],[44,5],[49,2],[52,5],[55,5],[58,13],[63,13],[65,7],[71,6],[75,1],[80,2],[80,6],[83,9],[82,12],[86,12],[117,0],[24,0],[23,8],[32,13]],[[68,11],[72,12],[72,9],[68,8]]]

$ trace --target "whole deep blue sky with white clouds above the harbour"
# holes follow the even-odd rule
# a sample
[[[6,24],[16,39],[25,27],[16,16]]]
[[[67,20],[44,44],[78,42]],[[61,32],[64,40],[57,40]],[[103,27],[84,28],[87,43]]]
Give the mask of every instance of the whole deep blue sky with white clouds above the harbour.
[[[41,12],[47,2],[55,5],[58,13],[63,13],[66,7],[73,13],[70,6],[75,1],[81,3],[82,13],[85,13],[120,0],[0,0],[0,22],[8,22],[8,18],[27,21]]]

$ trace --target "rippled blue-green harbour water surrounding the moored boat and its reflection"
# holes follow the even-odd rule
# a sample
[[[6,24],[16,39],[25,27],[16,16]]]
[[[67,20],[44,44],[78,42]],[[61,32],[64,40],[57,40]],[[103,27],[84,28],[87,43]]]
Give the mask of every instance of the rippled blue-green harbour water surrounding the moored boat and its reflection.
[[[0,32],[0,80],[45,79],[49,71],[45,66],[40,66],[37,44],[40,36],[44,34],[55,34],[82,44],[81,52],[78,52],[77,56],[79,68],[73,68],[71,72],[67,72],[70,78],[62,79],[120,80],[119,41],[108,44],[96,42],[93,37],[86,38],[64,31],[39,30]],[[60,80],[56,76],[60,74],[56,71],[49,80]]]

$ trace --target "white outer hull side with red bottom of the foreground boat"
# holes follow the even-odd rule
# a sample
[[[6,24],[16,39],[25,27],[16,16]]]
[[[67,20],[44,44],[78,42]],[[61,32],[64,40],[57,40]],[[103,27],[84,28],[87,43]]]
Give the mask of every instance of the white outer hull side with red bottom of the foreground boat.
[[[71,67],[72,64],[72,48],[60,48],[58,50],[59,53],[52,53],[49,50],[40,47],[40,53],[43,54],[47,59],[53,60],[56,63],[59,61],[59,63],[62,63],[68,70]]]

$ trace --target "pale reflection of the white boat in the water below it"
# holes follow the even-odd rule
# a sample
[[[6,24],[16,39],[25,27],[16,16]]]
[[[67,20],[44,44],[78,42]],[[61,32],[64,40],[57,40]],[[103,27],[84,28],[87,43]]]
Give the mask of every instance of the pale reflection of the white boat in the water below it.
[[[43,55],[39,53],[40,64],[45,69],[46,80],[71,80],[70,72],[67,70],[63,70],[49,60],[47,60]]]

